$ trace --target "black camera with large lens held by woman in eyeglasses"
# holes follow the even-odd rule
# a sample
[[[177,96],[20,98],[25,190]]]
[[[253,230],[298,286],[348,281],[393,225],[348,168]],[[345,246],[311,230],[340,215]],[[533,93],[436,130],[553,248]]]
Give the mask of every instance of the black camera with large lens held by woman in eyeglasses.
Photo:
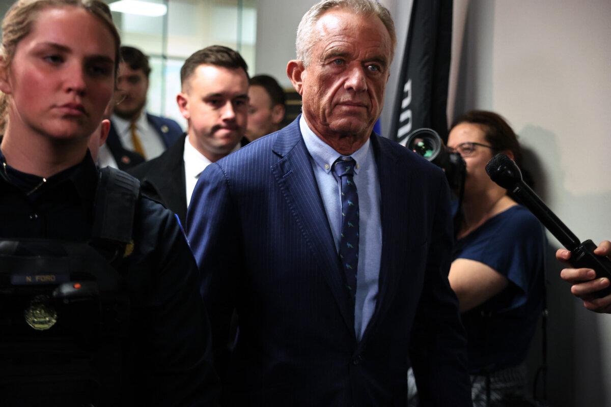
[[[461,190],[466,174],[463,157],[450,152],[436,131],[428,128],[417,129],[408,135],[406,146],[437,167],[441,167],[445,171],[450,188],[455,191]]]

